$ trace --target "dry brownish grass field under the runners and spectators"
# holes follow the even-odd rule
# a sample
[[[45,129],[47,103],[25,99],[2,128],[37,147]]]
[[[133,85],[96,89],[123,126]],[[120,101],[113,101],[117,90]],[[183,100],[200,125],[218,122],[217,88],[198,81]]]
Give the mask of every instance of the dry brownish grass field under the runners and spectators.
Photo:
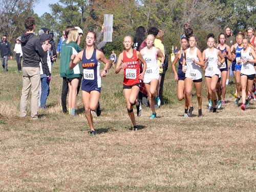
[[[16,61],[0,70],[0,191],[256,191],[256,101],[246,111],[233,103],[234,80],[226,105],[216,114],[184,118],[169,67],[164,105],[157,119],[150,108],[131,131],[122,92],[122,74],[102,78],[96,136],[89,137],[81,93],[77,115],[63,114],[62,79],[54,63],[47,109],[39,119],[19,118],[22,74]],[[195,94],[195,91],[194,91]],[[30,100],[29,100],[30,102]]]

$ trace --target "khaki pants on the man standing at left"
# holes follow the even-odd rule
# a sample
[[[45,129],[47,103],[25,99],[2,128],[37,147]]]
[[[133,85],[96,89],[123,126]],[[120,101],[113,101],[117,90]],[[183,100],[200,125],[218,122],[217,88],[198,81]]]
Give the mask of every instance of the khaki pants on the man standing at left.
[[[40,84],[40,68],[39,67],[23,67],[23,88],[22,97],[20,97],[20,117],[27,115],[28,96],[31,87],[31,118],[38,118],[38,98]]]

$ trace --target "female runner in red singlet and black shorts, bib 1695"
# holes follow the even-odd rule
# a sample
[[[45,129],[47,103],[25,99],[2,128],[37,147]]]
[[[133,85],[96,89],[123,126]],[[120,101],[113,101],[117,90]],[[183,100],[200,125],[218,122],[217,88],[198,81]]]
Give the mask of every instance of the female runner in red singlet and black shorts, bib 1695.
[[[119,73],[123,69],[123,92],[127,105],[127,112],[133,123],[133,130],[137,131],[138,126],[135,121],[133,113],[133,105],[137,107],[137,116],[140,117],[142,113],[141,101],[137,99],[140,90],[140,80],[144,79],[146,71],[146,62],[139,51],[133,50],[133,38],[126,35],[123,39],[125,50],[118,56],[115,72]],[[140,73],[139,60],[143,64],[143,71]],[[122,62],[122,65],[121,65]]]

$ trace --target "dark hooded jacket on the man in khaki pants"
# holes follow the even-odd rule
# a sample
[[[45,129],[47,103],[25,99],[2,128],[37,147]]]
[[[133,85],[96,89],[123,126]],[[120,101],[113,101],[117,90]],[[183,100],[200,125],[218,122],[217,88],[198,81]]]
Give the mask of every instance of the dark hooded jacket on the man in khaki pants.
[[[44,58],[40,40],[33,33],[24,33],[20,39],[23,52],[23,67],[40,67],[40,58]]]

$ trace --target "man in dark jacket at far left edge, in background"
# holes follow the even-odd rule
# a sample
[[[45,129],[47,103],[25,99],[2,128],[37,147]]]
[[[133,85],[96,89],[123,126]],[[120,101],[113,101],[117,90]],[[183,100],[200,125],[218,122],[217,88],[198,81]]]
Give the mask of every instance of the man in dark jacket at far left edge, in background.
[[[3,41],[0,43],[0,51],[1,51],[1,60],[2,66],[5,72],[8,71],[8,55],[10,55],[10,59],[12,59],[12,51],[9,42],[6,40],[7,35],[3,36]]]

